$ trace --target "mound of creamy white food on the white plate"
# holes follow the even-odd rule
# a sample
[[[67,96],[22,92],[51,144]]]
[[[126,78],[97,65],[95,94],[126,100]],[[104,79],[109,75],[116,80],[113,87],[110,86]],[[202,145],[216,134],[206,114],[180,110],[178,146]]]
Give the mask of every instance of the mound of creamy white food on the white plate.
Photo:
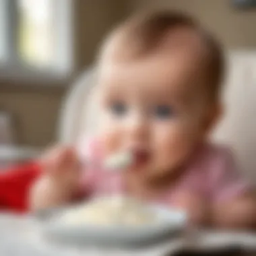
[[[158,221],[150,207],[128,197],[99,197],[72,210],[61,217],[65,224],[94,226],[137,226]]]

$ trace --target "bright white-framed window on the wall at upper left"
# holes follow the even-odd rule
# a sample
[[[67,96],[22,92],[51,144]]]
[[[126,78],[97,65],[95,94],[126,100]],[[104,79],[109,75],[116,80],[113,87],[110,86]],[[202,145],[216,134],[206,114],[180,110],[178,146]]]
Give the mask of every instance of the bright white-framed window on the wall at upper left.
[[[72,0],[0,0],[0,72],[66,77],[72,71]]]

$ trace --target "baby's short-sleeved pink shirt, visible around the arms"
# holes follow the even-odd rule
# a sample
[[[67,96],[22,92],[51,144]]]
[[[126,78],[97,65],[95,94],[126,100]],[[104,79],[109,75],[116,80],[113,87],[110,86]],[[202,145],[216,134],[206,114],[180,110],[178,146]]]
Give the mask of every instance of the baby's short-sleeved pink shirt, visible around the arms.
[[[82,141],[79,146],[82,160],[90,158],[100,162],[100,149],[95,141]],[[84,191],[90,195],[106,193],[127,193],[119,174],[107,172],[100,166],[87,166],[82,182]],[[189,162],[183,176],[175,185],[170,185],[156,200],[158,203],[172,203],[179,191],[195,191],[211,201],[224,201],[241,195],[250,189],[249,183],[239,172],[232,152],[209,143],[198,148]]]

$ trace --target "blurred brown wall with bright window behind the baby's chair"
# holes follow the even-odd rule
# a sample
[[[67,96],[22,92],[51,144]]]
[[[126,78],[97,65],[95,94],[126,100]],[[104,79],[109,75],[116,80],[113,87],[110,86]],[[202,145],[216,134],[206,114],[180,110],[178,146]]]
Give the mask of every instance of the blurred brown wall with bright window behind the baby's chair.
[[[248,4],[250,7],[237,4]],[[227,51],[256,48],[255,1],[0,0],[0,142],[43,147],[57,135],[61,102],[90,67],[102,38],[149,6],[195,15]],[[13,142],[14,141],[14,142]]]

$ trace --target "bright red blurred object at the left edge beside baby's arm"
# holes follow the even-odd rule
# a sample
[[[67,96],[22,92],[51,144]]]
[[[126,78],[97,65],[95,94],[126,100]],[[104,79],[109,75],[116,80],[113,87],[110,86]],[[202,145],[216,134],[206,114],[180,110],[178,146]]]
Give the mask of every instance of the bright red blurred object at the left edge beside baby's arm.
[[[24,213],[28,211],[28,193],[40,174],[35,162],[0,171],[0,209]]]

